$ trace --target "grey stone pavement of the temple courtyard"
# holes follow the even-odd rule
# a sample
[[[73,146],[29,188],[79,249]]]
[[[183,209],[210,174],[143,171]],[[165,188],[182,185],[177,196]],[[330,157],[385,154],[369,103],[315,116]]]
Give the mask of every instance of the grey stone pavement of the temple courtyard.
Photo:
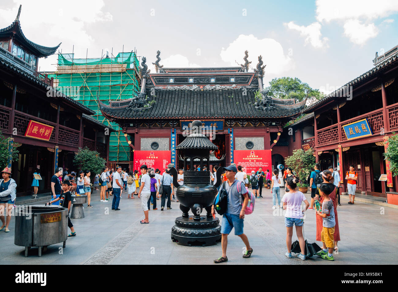
[[[281,197],[283,196],[281,189]],[[302,261],[285,257],[286,228],[282,209],[273,210],[272,196],[263,189],[264,198],[256,200],[254,213],[246,215],[244,233],[254,249],[252,257],[242,258],[244,244],[234,230],[228,236],[228,262],[222,265],[369,265],[398,264],[398,210],[369,203],[349,205],[348,196],[341,197],[338,218],[341,242],[335,261],[314,256]],[[310,201],[310,194],[306,197]],[[112,196],[110,197],[113,198]],[[174,219],[181,216],[179,203],[172,202],[171,210],[149,211],[150,224],[140,224],[144,214],[141,200],[127,199],[122,193],[120,211],[111,210],[111,201],[100,202],[99,191],[92,194],[93,208],[85,208],[84,219],[72,219],[76,237],[68,238],[66,248],[59,254],[62,243],[53,244],[37,256],[37,248],[31,248],[24,257],[24,248],[14,245],[14,223],[11,232],[0,232],[0,264],[213,264],[221,255],[221,243],[215,246],[179,246],[170,239]],[[37,204],[37,203],[35,203]],[[152,207],[152,206],[151,206]],[[105,208],[109,208],[106,212]],[[205,214],[205,210],[202,214]],[[315,240],[315,212],[308,210],[304,220],[304,232],[308,242]],[[68,230],[69,232],[70,230]],[[295,231],[293,241],[296,240]],[[319,245],[322,243],[318,242]]]

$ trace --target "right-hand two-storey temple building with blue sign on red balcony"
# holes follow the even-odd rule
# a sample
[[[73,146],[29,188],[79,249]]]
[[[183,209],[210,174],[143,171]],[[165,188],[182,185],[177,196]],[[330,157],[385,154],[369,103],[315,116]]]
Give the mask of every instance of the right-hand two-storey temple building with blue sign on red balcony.
[[[398,131],[397,53],[398,46],[382,56],[376,53],[371,70],[305,108],[306,116],[285,128],[293,129],[289,153],[300,147],[315,149],[322,169],[339,168],[343,188],[345,172],[353,164],[357,192],[380,196],[396,192],[398,180],[391,176],[383,153],[388,136]],[[381,174],[387,174],[386,183],[378,180]]]

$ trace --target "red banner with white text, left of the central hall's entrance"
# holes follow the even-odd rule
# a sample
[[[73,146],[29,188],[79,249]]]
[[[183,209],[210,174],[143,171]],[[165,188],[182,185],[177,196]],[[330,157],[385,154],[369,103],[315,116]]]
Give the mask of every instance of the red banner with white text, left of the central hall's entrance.
[[[135,150],[134,151],[134,170],[140,170],[142,164],[146,164],[148,168],[159,168],[162,174],[167,165],[170,163],[171,151],[146,151],[146,150]]]

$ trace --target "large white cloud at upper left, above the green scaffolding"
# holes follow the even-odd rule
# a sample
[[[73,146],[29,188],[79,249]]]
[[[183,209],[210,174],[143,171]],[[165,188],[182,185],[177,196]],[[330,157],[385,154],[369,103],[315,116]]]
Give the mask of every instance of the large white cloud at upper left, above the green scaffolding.
[[[99,21],[112,21],[109,12],[104,12],[103,0],[68,0],[68,2],[53,1],[51,9],[43,9],[49,6],[48,1],[43,0],[13,0],[11,9],[0,8],[0,25],[10,25],[17,13],[20,4],[21,28],[25,36],[34,43],[43,46],[56,46],[61,43],[63,52],[72,52],[74,44],[75,56],[86,56],[86,48],[92,47],[94,39],[84,30],[86,24]],[[57,56],[39,60],[40,70],[55,70]]]

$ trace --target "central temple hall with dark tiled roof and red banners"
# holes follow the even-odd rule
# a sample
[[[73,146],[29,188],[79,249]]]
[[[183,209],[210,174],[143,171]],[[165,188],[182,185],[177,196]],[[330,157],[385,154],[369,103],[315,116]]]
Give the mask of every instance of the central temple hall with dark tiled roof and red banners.
[[[130,169],[142,163],[164,168],[169,162],[183,168],[183,153],[175,147],[187,137],[193,120],[201,120],[203,128],[215,131],[208,136],[219,147],[214,160],[220,161],[214,164],[234,162],[250,170],[283,163],[288,153],[286,141],[279,139],[283,125],[300,114],[305,100],[267,96],[261,56],[254,72],[249,72],[251,62],[245,53],[240,67],[163,68],[158,52],[154,73],[142,58],[140,93],[110,104],[98,100],[103,116],[131,137],[128,143],[134,155]],[[197,166],[203,169],[203,165]]]

